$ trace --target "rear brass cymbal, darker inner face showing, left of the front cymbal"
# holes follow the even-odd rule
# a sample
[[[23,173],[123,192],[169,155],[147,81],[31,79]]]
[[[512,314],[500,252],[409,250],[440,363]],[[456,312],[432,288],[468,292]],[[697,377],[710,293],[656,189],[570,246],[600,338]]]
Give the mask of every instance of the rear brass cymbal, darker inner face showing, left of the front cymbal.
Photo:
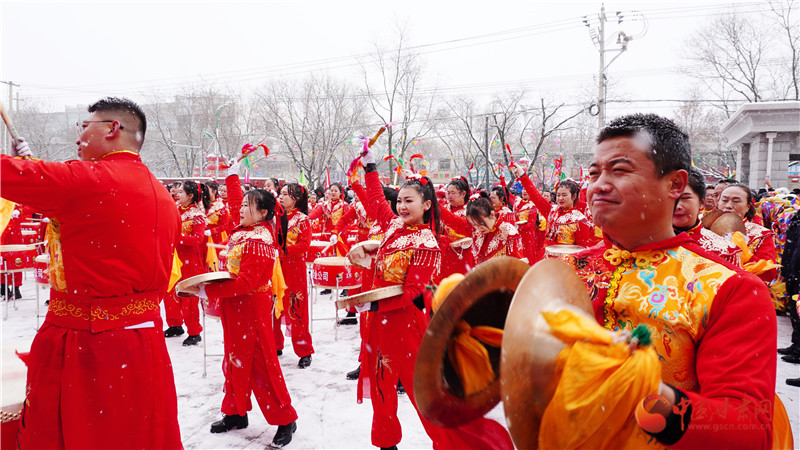
[[[433,315],[422,338],[414,371],[414,394],[420,413],[431,423],[456,427],[483,416],[500,401],[500,349],[485,346],[495,373],[483,390],[465,396],[447,348],[456,326],[503,328],[517,284],[530,268],[509,257],[491,259],[467,273]]]

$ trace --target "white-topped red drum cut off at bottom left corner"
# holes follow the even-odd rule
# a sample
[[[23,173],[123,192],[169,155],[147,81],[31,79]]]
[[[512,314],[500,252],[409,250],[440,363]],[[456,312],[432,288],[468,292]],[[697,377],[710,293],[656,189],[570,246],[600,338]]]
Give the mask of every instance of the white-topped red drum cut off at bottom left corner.
[[[30,344],[3,343],[3,379],[2,386],[2,406],[0,406],[0,416],[2,416],[2,429],[0,429],[0,448],[17,448],[17,431],[19,430],[20,417],[22,416],[22,404],[25,401],[25,381],[28,376],[28,368],[16,355],[28,352]]]

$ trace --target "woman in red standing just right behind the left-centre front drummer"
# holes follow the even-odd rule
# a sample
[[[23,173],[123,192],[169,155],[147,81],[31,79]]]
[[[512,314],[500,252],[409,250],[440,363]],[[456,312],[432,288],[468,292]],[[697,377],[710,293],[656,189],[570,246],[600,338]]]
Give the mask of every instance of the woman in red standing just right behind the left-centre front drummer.
[[[275,332],[275,345],[279,352],[283,351],[283,333],[281,322],[292,335],[292,347],[300,361],[297,367],[305,369],[311,365],[311,334],[308,331],[308,272],[306,269],[306,253],[311,244],[311,226],[308,223],[308,190],[291,183],[281,188],[279,197],[285,214],[281,216],[280,239],[283,245],[278,249],[281,270],[286,281],[283,294],[283,314],[280,318],[273,315],[272,326]]]

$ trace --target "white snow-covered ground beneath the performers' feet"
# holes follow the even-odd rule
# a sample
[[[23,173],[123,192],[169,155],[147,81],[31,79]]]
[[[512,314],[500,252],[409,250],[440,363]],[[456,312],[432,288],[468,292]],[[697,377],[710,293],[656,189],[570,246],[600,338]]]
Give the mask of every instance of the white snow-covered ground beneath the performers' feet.
[[[22,288],[23,299],[12,302],[8,320],[2,322],[2,341],[28,343],[36,333],[36,285],[32,274],[26,274]],[[44,301],[48,291],[39,288],[40,314],[44,316]],[[3,304],[3,307],[6,305]],[[299,369],[297,356],[287,339],[281,366],[286,384],[297,410],[297,432],[287,448],[373,448],[370,443],[372,407],[369,400],[356,403],[356,382],[345,379],[345,373],[358,365],[358,326],[334,327],[334,306],[330,295],[318,295],[313,305],[315,354],[311,367]],[[162,314],[163,316],[163,314]],[[41,323],[39,319],[39,322]],[[257,403],[248,415],[250,426],[222,434],[211,434],[211,422],[221,417],[223,377],[221,357],[222,327],[218,320],[206,317],[203,336],[207,348],[207,375],[204,377],[203,346],[183,347],[183,337],[167,339],[175,385],[178,392],[178,414],[183,445],[187,449],[264,448],[272,442],[277,427],[268,425]],[[789,345],[791,326],[789,318],[778,317],[778,347]],[[800,367],[778,358],[776,391],[786,406],[792,421],[795,444],[800,443],[800,388],[789,386],[786,378],[800,377]],[[431,448],[422,425],[405,395],[400,396],[398,415],[403,427],[400,448]],[[503,421],[502,406],[489,413],[489,417]]]

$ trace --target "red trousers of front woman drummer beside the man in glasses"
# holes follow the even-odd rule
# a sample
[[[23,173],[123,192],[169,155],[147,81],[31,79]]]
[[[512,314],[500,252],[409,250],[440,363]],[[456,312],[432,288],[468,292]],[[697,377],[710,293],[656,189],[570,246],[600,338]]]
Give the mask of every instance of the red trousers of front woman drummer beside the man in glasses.
[[[269,318],[271,295],[250,294],[222,299],[222,331],[225,357],[225,397],[222,413],[244,415],[255,394],[270,425],[287,425],[297,420],[283,379]]]

